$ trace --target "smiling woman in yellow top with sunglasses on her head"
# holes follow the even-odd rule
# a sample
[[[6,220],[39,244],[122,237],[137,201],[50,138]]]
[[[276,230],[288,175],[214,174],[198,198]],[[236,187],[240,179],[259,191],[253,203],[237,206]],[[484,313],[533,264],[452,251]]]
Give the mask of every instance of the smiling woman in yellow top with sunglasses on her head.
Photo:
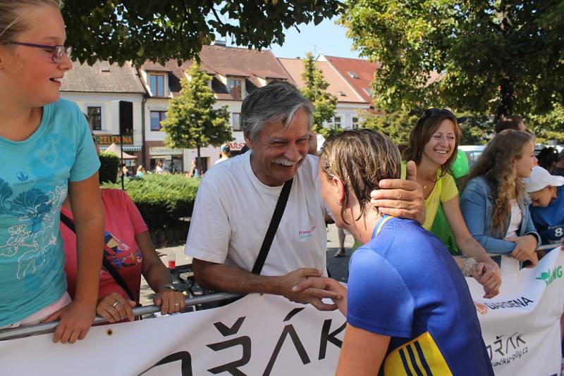
[[[484,286],[484,297],[499,292],[501,272],[482,246],[468,231],[460,206],[458,189],[450,166],[457,156],[460,128],[453,113],[439,108],[424,111],[410,134],[403,151],[405,161],[415,161],[417,182],[423,188],[426,218],[423,227],[430,230],[439,206],[442,206],[458,249],[467,258],[456,258],[465,275],[474,277]]]

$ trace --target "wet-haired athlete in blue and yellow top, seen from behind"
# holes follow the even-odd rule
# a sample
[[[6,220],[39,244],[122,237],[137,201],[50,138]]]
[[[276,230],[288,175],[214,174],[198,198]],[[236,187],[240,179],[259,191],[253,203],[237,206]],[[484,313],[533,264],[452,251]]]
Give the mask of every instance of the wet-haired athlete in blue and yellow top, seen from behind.
[[[343,163],[346,161],[346,163]],[[364,244],[348,287],[308,277],[294,291],[327,289],[347,317],[336,375],[494,375],[472,296],[446,246],[415,220],[382,215],[370,192],[400,175],[400,153],[374,130],[330,137],[319,156],[321,197],[337,227]]]

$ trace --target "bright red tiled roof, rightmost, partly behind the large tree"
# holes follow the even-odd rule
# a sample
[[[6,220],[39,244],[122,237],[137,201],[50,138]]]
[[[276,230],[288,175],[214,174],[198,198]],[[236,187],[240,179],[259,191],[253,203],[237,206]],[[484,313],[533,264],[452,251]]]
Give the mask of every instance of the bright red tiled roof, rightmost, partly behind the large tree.
[[[324,56],[333,67],[341,73],[341,76],[355,89],[355,92],[362,96],[364,101],[374,106],[372,97],[366,92],[369,89],[372,92],[372,80],[374,80],[374,72],[380,68],[380,64],[362,60],[360,58],[338,58],[336,56]],[[356,78],[351,76],[351,73]]]

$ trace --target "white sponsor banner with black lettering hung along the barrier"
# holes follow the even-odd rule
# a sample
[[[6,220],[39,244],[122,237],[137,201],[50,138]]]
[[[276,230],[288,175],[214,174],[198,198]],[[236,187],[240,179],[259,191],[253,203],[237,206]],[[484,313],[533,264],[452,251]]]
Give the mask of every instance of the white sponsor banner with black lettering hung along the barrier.
[[[503,275],[494,299],[467,279],[496,375],[559,375],[563,261],[555,250],[534,269]],[[253,294],[221,308],[92,327],[73,345],[52,344],[52,334],[0,341],[0,374],[333,375],[344,328],[338,311]]]

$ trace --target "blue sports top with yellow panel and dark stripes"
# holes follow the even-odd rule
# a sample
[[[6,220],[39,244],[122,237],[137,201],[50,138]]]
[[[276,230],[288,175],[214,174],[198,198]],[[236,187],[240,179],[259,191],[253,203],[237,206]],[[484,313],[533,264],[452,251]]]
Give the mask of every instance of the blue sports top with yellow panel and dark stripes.
[[[380,375],[494,375],[470,290],[446,246],[385,217],[350,260],[348,323],[390,336]]]

